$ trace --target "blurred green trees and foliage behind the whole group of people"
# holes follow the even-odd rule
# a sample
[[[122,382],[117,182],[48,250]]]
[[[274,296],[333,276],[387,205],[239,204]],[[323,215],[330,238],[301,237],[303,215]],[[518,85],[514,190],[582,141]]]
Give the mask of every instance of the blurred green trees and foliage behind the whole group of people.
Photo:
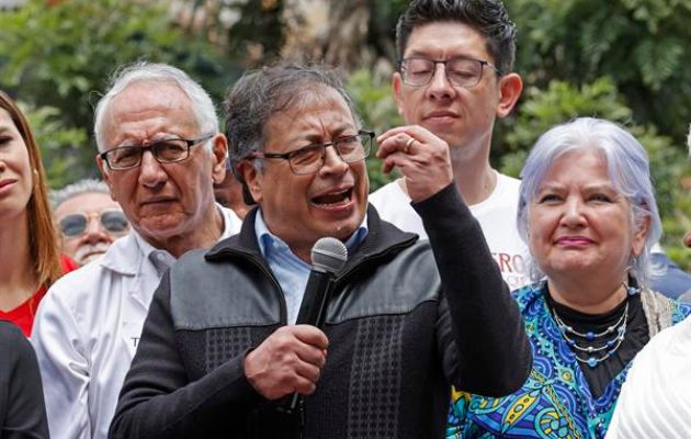
[[[550,126],[616,121],[648,149],[662,245],[686,270],[691,229],[691,0],[505,0],[525,90],[497,124],[492,165],[518,176]],[[220,109],[248,68],[286,57],[339,66],[377,133],[400,123],[390,91],[394,30],[407,0],[0,0],[0,88],[27,112],[53,188],[97,176],[93,105],[113,70],[173,64]],[[372,189],[387,181],[369,162]]]

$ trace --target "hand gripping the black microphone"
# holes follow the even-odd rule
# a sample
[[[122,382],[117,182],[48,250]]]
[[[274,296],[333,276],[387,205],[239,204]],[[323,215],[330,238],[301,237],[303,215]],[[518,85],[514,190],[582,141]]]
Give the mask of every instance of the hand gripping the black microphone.
[[[309,325],[284,326],[245,358],[245,375],[268,399],[316,390],[326,364],[328,338]]]

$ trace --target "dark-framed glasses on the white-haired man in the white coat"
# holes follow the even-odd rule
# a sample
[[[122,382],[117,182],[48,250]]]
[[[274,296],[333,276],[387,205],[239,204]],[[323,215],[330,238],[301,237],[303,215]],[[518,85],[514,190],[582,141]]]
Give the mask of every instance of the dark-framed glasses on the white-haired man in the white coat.
[[[114,171],[136,168],[141,165],[145,150],[150,150],[159,164],[174,164],[190,157],[190,148],[208,140],[214,135],[208,134],[200,138],[166,138],[147,145],[127,145],[109,149],[99,154],[109,169]]]

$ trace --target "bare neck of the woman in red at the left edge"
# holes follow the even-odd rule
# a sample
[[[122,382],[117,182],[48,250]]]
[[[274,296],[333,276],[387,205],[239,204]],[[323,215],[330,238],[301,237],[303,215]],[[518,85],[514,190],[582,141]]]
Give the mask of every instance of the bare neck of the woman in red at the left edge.
[[[0,309],[11,311],[38,288],[32,263],[26,212],[3,218],[0,227]]]

